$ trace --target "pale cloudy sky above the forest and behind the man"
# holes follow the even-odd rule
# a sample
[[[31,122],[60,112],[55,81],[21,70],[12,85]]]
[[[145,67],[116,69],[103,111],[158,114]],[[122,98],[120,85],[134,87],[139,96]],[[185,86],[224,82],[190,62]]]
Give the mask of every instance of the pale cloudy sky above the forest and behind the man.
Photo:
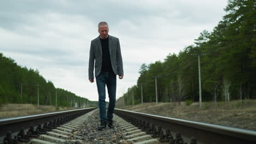
[[[106,21],[118,37],[124,79],[117,98],[136,85],[143,63],[163,61],[191,45],[203,29],[222,20],[226,0],[109,0],[0,2],[0,52],[80,97],[97,100],[96,82],[88,80],[90,42]],[[107,99],[106,99],[107,100]]]

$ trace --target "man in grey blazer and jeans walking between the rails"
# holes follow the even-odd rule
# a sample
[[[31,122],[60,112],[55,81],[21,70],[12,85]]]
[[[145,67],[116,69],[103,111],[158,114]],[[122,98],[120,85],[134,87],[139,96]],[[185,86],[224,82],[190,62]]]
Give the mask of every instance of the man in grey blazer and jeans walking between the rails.
[[[113,128],[113,112],[115,108],[115,93],[117,91],[117,76],[123,79],[123,60],[119,39],[108,35],[108,23],[98,23],[100,35],[91,41],[89,57],[89,81],[94,82],[95,77],[98,90],[98,107],[100,109],[101,124],[98,130]],[[108,111],[106,116],[106,86],[108,89]]]

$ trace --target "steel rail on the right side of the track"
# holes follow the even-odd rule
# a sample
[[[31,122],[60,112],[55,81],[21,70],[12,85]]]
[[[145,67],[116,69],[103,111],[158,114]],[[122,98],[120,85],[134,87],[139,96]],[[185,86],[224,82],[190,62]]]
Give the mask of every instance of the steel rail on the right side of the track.
[[[256,143],[256,131],[245,130],[221,125],[187,121],[184,119],[150,115],[147,113],[115,109],[115,114],[141,119],[163,129],[170,129],[173,134],[179,131],[184,139],[196,137],[197,143]]]

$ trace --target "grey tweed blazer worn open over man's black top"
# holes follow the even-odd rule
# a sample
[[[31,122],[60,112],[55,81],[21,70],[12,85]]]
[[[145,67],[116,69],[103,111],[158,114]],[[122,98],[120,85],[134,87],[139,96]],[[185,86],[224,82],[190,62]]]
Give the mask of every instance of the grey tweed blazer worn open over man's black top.
[[[124,75],[123,60],[121,56],[121,49],[119,39],[108,35],[109,54],[112,69],[116,75]],[[94,63],[95,62],[95,63]],[[89,57],[89,79],[94,79],[101,73],[102,65],[102,48],[100,36],[91,41],[90,57]]]

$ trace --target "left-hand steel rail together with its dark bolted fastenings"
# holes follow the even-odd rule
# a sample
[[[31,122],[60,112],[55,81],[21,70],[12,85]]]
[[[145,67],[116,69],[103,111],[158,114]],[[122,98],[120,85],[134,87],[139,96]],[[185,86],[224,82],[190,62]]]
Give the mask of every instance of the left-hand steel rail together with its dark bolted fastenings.
[[[30,137],[46,133],[95,108],[46,113],[34,116],[0,119],[0,143],[4,141],[26,142]],[[27,133],[27,134],[25,134]],[[10,139],[10,140],[9,140]],[[5,140],[6,141],[6,140]]]

